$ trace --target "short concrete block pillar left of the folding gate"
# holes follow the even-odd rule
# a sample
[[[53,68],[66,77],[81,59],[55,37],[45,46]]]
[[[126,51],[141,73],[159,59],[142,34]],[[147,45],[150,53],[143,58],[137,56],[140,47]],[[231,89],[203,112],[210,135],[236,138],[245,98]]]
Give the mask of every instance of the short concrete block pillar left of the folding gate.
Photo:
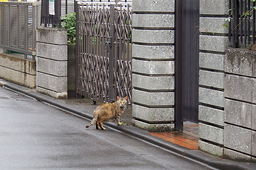
[[[37,91],[67,98],[67,31],[37,28]]]

